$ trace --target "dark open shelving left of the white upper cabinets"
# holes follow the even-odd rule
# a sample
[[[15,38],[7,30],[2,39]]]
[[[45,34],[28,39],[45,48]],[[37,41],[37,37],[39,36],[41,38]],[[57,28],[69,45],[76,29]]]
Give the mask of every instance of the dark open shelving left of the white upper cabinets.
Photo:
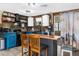
[[[23,29],[27,28],[27,21],[28,21],[27,16],[16,14],[15,19],[16,19],[16,22],[15,22],[16,29],[19,28],[21,31],[24,31]]]

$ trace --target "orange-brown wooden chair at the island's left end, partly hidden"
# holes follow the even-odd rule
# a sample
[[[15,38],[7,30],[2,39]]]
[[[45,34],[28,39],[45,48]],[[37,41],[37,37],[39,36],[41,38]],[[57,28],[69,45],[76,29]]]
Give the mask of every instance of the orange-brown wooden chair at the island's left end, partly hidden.
[[[29,39],[28,35],[26,34],[21,34],[21,46],[22,46],[22,56],[24,54],[29,53]]]

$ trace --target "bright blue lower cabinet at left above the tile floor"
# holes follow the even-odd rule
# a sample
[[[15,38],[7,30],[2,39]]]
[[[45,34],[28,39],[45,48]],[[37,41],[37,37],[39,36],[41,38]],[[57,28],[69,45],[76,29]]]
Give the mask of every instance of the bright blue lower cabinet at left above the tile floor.
[[[4,38],[5,38],[6,49],[16,46],[16,33],[15,32],[5,32]]]

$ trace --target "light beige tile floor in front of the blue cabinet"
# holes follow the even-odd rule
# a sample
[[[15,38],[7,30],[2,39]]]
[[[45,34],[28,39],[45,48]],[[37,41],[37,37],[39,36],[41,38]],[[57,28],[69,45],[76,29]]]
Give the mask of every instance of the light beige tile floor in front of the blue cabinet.
[[[21,47],[0,51],[0,56],[21,56]]]

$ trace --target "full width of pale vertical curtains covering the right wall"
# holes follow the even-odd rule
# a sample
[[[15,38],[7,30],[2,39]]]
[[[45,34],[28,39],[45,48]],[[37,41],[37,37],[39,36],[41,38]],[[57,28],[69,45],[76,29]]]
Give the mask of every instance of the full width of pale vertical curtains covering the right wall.
[[[60,20],[61,36],[65,37],[69,33],[70,40],[76,40],[79,48],[79,12],[60,13]]]

